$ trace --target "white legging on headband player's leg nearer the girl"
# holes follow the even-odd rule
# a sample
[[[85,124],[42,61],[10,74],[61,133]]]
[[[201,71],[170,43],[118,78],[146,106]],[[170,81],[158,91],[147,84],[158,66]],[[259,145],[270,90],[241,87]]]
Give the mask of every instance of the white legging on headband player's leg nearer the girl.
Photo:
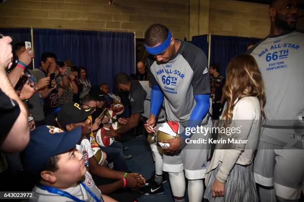
[[[204,196],[203,179],[188,180],[189,202],[202,202]]]

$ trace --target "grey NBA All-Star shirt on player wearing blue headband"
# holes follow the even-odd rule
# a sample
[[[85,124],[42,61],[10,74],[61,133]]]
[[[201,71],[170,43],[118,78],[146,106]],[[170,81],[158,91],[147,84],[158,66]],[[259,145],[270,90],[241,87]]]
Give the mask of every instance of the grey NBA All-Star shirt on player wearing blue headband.
[[[198,47],[183,41],[177,53],[165,64],[149,57],[147,65],[152,85],[164,94],[168,121],[185,123],[196,105],[194,95],[210,93],[208,60]]]

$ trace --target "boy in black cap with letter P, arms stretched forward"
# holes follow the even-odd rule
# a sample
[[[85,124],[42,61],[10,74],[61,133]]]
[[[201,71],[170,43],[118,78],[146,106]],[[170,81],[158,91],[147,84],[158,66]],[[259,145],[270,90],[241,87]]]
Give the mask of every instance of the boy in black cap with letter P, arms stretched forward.
[[[57,126],[63,131],[72,131],[81,126],[81,138],[77,138],[78,141],[76,141],[75,144],[77,144],[76,148],[83,154],[85,167],[87,167],[93,175],[117,180],[108,185],[101,185],[99,188],[102,189],[104,193],[111,193],[119,188],[125,187],[141,187],[145,182],[142,175],[138,173],[120,172],[98,164],[88,140],[88,135],[91,133],[91,121],[88,119],[88,116],[93,110],[94,108],[84,109],[78,103],[66,104],[62,106],[55,118]]]

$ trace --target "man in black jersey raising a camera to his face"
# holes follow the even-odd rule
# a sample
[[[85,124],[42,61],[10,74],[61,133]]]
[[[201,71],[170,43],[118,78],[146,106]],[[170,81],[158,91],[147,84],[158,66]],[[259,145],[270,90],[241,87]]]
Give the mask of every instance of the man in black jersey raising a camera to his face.
[[[67,76],[67,66],[63,62],[56,62],[56,55],[51,52],[44,52],[41,56],[41,67],[32,71],[37,81],[45,79],[49,85],[40,90],[44,99],[44,115],[52,113],[59,107],[58,84],[64,89],[69,88],[69,78]]]

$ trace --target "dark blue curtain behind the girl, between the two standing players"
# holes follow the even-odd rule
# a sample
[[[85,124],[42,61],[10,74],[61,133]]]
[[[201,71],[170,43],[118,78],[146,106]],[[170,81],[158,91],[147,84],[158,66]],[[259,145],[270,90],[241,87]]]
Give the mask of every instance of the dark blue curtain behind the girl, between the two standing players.
[[[226,68],[230,60],[241,53],[245,53],[251,42],[260,40],[248,37],[212,35],[210,64],[219,63],[220,74],[226,76]]]

